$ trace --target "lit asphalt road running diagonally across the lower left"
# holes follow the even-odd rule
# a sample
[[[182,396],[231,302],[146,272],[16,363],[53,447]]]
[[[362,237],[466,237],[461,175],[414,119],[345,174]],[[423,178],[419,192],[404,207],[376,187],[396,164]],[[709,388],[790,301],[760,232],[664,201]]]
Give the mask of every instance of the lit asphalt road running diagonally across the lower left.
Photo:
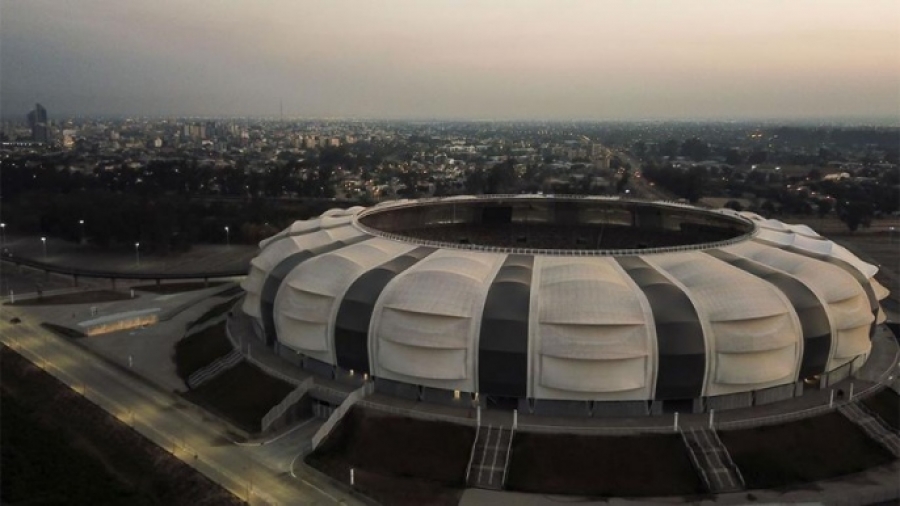
[[[224,425],[186,401],[43,329],[27,313],[9,306],[2,313],[4,344],[250,504],[361,504],[302,466],[285,469],[285,449],[272,459],[260,447],[236,445]],[[10,323],[15,316],[22,322]]]

